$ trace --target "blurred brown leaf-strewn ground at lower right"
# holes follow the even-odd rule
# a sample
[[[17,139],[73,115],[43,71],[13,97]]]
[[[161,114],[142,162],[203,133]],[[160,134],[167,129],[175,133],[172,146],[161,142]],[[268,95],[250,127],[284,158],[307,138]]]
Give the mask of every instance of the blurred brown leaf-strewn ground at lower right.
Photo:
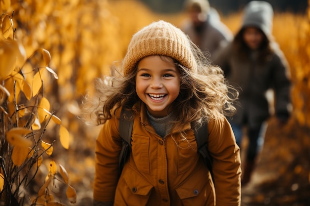
[[[271,119],[251,182],[242,187],[242,206],[309,206],[309,148],[310,128]]]

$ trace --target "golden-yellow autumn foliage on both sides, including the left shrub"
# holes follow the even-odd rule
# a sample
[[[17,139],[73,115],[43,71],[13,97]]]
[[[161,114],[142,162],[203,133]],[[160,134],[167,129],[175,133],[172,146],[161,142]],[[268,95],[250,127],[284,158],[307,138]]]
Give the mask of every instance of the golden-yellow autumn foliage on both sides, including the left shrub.
[[[0,203],[65,205],[78,202],[71,184],[92,190],[97,132],[77,118],[83,95],[110,75],[135,32],[183,18],[134,0],[0,0]],[[241,15],[222,20],[236,32]],[[293,122],[310,127],[310,10],[275,13],[273,34],[291,68]],[[92,155],[83,157],[86,150]],[[81,174],[89,184],[77,183]],[[55,181],[67,200],[52,195]]]

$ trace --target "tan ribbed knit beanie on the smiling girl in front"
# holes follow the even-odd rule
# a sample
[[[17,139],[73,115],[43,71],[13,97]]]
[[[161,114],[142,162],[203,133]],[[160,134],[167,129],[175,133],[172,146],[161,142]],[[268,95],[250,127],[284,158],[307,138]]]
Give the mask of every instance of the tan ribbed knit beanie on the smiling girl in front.
[[[132,37],[123,60],[124,76],[134,69],[139,60],[151,55],[172,57],[193,71],[197,67],[188,37],[162,20],[142,28]]]

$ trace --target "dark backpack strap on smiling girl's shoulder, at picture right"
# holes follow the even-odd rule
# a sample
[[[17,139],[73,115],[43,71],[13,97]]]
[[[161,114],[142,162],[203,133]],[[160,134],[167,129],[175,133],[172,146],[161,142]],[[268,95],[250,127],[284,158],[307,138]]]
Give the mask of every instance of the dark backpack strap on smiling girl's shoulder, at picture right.
[[[214,183],[214,176],[213,176],[213,169],[212,169],[212,158],[211,158],[211,155],[210,155],[208,148],[207,148],[208,147],[208,135],[209,135],[208,124],[206,123],[206,124],[202,125],[198,129],[195,129],[194,132],[195,132],[195,137],[196,137],[196,141],[197,141],[198,152],[203,157],[204,162],[210,171],[212,181]]]

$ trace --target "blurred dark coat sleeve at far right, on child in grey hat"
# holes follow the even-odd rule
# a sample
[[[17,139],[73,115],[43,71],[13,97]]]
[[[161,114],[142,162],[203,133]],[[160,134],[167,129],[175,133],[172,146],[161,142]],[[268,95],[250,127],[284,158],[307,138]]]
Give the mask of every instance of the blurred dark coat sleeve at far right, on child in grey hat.
[[[289,66],[281,51],[278,51],[275,56],[273,71],[275,115],[278,119],[287,121],[290,117],[291,81]]]

